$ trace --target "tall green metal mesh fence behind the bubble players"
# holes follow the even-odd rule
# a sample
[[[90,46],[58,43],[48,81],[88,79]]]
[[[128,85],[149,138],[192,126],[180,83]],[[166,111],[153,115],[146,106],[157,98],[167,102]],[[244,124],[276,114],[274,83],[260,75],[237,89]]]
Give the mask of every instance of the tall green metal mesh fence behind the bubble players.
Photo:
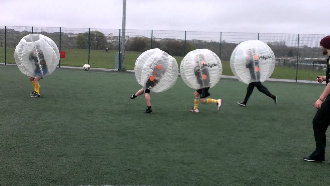
[[[115,69],[121,63],[126,70],[133,70],[139,55],[152,48],[168,50],[180,66],[188,52],[206,48],[220,57],[223,75],[233,75],[229,60],[234,48],[241,42],[258,39],[268,44],[276,56],[272,78],[315,81],[317,75],[324,74],[327,58],[322,55],[319,45],[326,35],[320,34],[165,30],[123,32],[120,29],[0,26],[0,63],[15,63],[15,48],[30,33],[48,36],[60,51],[66,52],[66,58],[61,58],[60,66],[82,67],[87,63],[92,68]],[[124,51],[121,46],[123,40]],[[123,57],[121,62],[118,62],[119,51]]]

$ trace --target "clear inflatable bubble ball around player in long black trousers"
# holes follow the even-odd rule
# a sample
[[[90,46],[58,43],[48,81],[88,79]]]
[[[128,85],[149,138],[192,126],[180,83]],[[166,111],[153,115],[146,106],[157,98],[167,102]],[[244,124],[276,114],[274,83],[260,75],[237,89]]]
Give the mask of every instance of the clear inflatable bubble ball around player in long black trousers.
[[[230,68],[241,82],[264,82],[275,69],[275,55],[266,43],[248,40],[234,49],[230,57]]]

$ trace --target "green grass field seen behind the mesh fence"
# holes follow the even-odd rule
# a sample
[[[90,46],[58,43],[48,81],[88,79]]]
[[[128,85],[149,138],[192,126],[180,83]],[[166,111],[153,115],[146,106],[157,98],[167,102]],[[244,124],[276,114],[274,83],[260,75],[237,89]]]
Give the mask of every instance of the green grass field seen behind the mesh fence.
[[[7,63],[15,63],[14,59],[15,48],[7,49]],[[66,58],[61,59],[61,66],[82,67],[83,64],[88,63],[88,50],[82,49],[70,49],[66,51]],[[117,50],[111,52],[103,52],[103,50],[91,50],[90,51],[90,65],[92,68],[115,68],[115,53]],[[0,48],[0,62],[4,62],[4,48]],[[134,64],[136,59],[142,52],[125,52],[124,66],[127,70],[134,70]],[[180,67],[183,57],[174,56]],[[222,61],[223,75],[233,75],[230,64],[228,61]],[[311,71],[301,70],[293,68],[284,68],[276,66],[271,78],[282,79],[299,79],[299,80],[315,80],[316,76],[322,75],[323,71]]]

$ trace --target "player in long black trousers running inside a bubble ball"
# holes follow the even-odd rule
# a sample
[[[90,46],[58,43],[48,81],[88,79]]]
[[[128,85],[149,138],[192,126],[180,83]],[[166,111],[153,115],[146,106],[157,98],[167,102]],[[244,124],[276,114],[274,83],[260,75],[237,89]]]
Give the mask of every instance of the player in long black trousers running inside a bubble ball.
[[[257,89],[272,98],[275,102],[275,105],[277,103],[277,96],[274,96],[271,94],[268,89],[259,81],[260,80],[260,70],[259,70],[259,56],[256,55],[256,52],[254,49],[248,50],[248,55],[246,57],[246,68],[250,71],[251,75],[251,82],[248,84],[248,91],[245,96],[245,99],[243,102],[238,102],[240,106],[245,107],[249,97],[251,96],[254,87],[257,87]]]

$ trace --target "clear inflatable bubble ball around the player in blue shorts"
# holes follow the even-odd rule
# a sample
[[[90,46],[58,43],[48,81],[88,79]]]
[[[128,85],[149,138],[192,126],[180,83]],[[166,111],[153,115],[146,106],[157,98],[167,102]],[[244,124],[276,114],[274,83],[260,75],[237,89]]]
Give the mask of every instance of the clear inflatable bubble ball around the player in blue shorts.
[[[18,69],[25,75],[43,78],[56,69],[60,53],[53,40],[42,34],[23,37],[15,49]]]

